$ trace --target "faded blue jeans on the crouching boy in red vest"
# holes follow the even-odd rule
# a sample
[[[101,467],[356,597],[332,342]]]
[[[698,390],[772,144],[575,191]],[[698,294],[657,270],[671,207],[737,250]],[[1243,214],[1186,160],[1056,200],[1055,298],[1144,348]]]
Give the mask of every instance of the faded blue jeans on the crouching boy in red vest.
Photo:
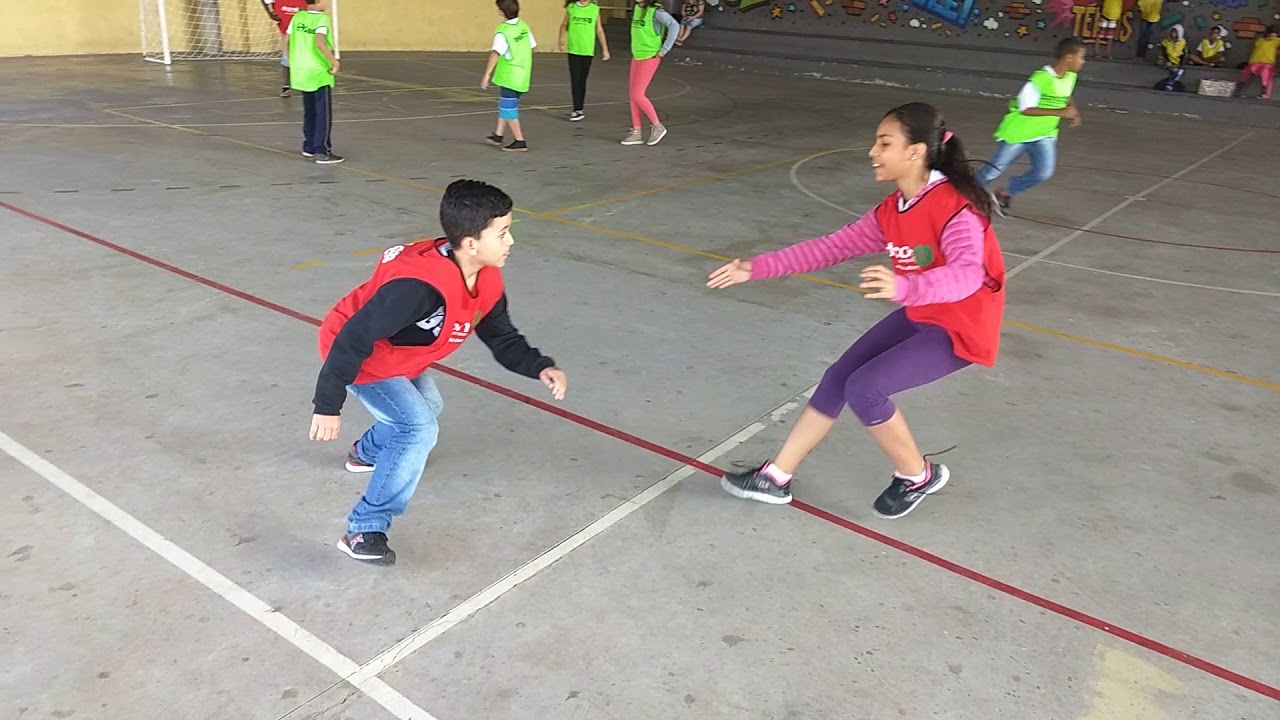
[[[376,423],[356,441],[356,455],[374,464],[364,497],[347,518],[348,533],[385,533],[392,518],[404,512],[426,457],[435,447],[444,410],[444,398],[430,375],[389,378],[375,383],[351,384],[347,389],[360,398]]]

